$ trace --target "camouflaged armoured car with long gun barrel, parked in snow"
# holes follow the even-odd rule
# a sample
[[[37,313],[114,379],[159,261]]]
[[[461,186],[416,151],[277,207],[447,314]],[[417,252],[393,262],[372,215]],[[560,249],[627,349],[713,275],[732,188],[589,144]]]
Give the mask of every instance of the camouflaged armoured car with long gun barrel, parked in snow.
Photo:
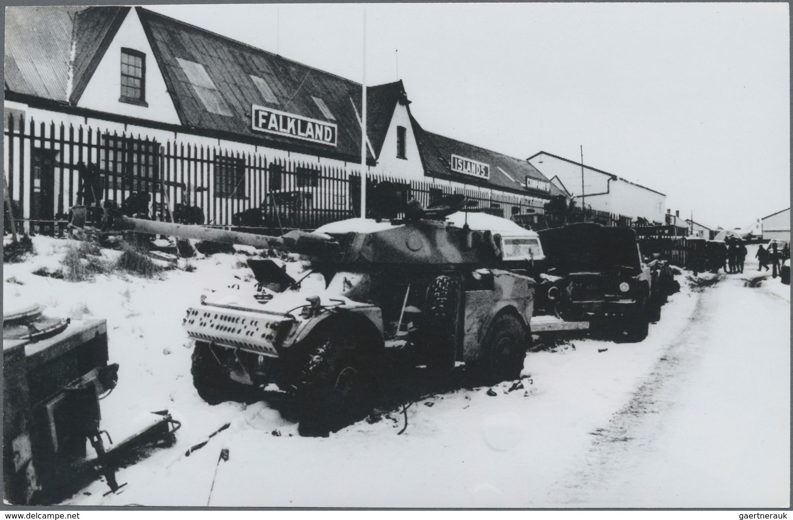
[[[415,201],[414,201],[415,202]],[[365,407],[386,348],[417,353],[447,377],[465,362],[483,384],[519,378],[531,340],[537,235],[460,211],[462,195],[404,219],[352,218],[282,237],[128,218],[75,207],[71,223],[299,253],[320,290],[302,290],[270,259],[248,265],[257,290],[218,290],[186,310],[193,384],[208,403],[277,383],[317,413]],[[446,222],[452,216],[453,222]],[[500,222],[500,224],[503,224]],[[475,224],[475,225],[472,225]],[[478,228],[478,229],[475,229]],[[513,236],[514,235],[514,236]]]

